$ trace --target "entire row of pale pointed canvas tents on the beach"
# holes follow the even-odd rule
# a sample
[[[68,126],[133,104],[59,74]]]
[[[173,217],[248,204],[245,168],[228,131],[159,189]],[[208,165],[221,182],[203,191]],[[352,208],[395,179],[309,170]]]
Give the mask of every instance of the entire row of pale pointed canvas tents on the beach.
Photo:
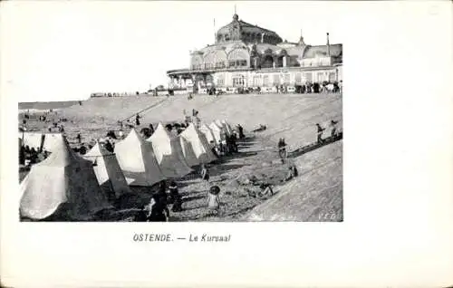
[[[201,124],[199,129],[190,123],[178,136],[159,123],[149,139],[132,129],[115,144],[114,153],[96,142],[82,156],[61,133],[21,133],[23,145],[51,152],[20,184],[21,216],[44,219],[63,213],[65,218],[83,220],[131,193],[130,186],[150,187],[182,178],[198,165],[216,160],[213,146],[225,143],[232,133],[225,120]]]

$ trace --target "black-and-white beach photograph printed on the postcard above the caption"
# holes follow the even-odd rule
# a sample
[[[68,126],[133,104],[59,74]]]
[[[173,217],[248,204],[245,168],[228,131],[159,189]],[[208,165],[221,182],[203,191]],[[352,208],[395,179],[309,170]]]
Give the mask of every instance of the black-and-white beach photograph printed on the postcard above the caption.
[[[155,6],[60,19],[75,40],[48,27],[83,52],[48,55],[57,79],[24,64],[40,83],[18,107],[21,221],[341,222],[341,31],[265,3],[185,5],[187,27]]]

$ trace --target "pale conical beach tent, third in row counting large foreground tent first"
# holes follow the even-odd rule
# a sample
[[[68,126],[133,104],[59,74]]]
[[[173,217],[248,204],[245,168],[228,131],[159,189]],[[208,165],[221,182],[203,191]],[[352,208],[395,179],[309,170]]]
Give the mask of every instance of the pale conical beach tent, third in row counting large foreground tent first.
[[[152,186],[165,179],[154,156],[151,143],[132,129],[125,139],[115,144],[120,168],[131,186]]]

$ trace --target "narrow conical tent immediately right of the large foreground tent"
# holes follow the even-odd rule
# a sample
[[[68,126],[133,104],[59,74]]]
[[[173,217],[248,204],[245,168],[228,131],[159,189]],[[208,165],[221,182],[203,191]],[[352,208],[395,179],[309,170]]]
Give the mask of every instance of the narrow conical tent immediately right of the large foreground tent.
[[[115,154],[103,148],[99,142],[83,158],[92,161],[98,183],[110,199],[131,192]]]

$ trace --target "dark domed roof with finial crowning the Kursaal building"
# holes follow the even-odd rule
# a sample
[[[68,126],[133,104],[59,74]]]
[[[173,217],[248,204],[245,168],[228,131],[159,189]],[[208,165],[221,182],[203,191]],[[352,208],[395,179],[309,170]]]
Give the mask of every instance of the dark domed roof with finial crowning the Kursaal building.
[[[235,33],[238,34],[237,37],[233,35]],[[223,34],[230,35],[231,40],[242,40],[246,42],[249,41],[247,41],[248,39],[246,39],[246,37],[244,37],[243,34],[255,34],[260,39],[261,36],[264,34],[266,37],[272,39],[273,43],[282,42],[282,38],[274,31],[239,20],[239,16],[237,14],[233,15],[233,21],[230,24],[226,24],[225,26],[217,30],[217,35]]]

